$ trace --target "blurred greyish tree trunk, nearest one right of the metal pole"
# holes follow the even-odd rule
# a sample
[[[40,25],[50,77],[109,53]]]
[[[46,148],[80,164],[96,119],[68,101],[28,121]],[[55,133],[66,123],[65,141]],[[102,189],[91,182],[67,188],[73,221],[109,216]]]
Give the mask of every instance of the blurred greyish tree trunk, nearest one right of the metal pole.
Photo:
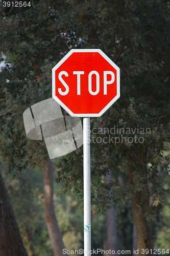
[[[109,183],[112,180],[111,171],[105,177],[105,182]],[[106,213],[106,250],[115,251],[117,253],[117,229],[116,229],[116,216],[115,209],[112,207]],[[107,254],[107,255],[112,255]]]

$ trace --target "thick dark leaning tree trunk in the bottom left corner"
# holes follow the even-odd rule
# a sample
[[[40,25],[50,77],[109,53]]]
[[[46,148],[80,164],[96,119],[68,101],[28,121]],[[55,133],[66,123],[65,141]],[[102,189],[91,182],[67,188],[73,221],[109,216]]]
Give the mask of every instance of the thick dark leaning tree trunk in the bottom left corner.
[[[0,255],[28,256],[0,172]]]

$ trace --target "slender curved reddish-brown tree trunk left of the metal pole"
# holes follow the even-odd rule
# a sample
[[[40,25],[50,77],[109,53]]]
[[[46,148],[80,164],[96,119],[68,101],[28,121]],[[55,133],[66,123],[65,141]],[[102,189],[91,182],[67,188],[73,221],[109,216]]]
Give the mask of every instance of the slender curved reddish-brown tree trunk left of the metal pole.
[[[53,166],[49,159],[44,172],[45,220],[48,234],[52,241],[54,256],[61,256],[66,254],[63,254],[64,244],[54,212],[53,179]]]

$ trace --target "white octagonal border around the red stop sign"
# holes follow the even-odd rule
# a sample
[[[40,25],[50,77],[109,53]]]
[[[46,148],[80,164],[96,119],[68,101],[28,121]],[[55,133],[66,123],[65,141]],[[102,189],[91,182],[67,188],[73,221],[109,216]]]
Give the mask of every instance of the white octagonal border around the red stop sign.
[[[98,52],[100,53],[109,63],[110,65],[116,70],[117,72],[117,95],[112,99],[105,108],[100,112],[96,114],[80,114],[80,113],[72,113],[67,106],[56,96],[56,86],[55,86],[55,71],[64,63],[64,61],[74,52]],[[58,63],[54,68],[52,69],[52,96],[53,99],[59,103],[62,108],[72,117],[100,117],[102,116],[109,108],[110,106],[120,97],[120,69],[117,67],[117,65],[101,50],[101,49],[72,49],[70,50]]]

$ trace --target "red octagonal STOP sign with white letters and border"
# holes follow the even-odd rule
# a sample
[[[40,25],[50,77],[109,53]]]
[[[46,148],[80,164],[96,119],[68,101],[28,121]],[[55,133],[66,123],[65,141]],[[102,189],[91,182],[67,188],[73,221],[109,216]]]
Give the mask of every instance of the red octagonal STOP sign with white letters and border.
[[[119,68],[100,49],[72,49],[52,70],[53,98],[72,117],[99,117],[120,97]]]

